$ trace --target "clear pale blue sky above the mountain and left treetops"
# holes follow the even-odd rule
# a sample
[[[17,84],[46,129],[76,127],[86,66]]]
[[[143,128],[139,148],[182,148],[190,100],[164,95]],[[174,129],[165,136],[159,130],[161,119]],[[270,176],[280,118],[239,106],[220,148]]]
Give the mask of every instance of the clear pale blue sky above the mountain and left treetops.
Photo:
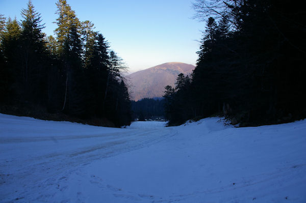
[[[32,0],[45,23],[43,30],[54,35],[57,1]],[[0,13],[21,20],[28,0],[0,0]],[[113,49],[136,72],[167,62],[195,65],[196,51],[205,23],[192,19],[189,0],[67,0],[81,21],[94,23]]]

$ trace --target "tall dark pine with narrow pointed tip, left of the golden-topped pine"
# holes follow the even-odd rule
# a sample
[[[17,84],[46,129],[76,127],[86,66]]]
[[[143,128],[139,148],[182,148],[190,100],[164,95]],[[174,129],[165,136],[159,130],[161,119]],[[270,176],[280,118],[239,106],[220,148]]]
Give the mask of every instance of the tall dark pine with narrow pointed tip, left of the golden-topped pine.
[[[22,9],[21,16],[21,59],[22,59],[22,84],[23,97],[28,101],[45,101],[46,46],[41,24],[41,17],[29,0],[27,9]],[[44,98],[41,98],[44,97]]]

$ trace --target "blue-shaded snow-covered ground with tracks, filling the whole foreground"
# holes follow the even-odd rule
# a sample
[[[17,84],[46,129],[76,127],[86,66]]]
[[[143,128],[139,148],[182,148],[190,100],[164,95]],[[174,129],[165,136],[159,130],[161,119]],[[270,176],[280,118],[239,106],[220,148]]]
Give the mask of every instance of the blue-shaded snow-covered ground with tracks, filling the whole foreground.
[[[0,202],[306,202],[306,120],[164,125],[0,114]]]

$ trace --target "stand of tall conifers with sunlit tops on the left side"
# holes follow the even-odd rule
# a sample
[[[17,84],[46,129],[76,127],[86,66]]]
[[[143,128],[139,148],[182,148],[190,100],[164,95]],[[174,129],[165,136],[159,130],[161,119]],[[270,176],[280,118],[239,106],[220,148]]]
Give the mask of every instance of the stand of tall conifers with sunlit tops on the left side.
[[[21,21],[1,15],[0,110],[129,125],[122,60],[92,22],[81,22],[65,0],[56,6],[55,37],[42,33],[44,24],[31,0]]]

